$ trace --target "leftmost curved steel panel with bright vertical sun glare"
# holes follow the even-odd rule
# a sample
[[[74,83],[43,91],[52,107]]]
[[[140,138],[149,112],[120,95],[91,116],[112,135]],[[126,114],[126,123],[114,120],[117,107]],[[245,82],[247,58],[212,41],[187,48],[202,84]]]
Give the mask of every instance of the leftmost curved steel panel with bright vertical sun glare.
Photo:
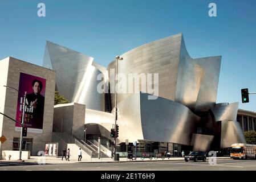
[[[100,82],[97,75],[105,74],[106,69],[103,72],[104,67],[93,60],[93,57],[47,41],[43,66],[56,71],[57,89],[67,100],[104,111],[105,94],[97,92]]]

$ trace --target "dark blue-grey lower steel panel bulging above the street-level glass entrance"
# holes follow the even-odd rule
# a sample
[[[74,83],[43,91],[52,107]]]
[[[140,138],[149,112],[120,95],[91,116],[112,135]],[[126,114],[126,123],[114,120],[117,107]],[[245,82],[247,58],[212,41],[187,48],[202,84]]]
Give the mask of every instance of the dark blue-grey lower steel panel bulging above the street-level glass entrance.
[[[200,118],[182,104],[160,97],[148,100],[147,95],[140,94],[144,139],[189,145],[194,126]]]

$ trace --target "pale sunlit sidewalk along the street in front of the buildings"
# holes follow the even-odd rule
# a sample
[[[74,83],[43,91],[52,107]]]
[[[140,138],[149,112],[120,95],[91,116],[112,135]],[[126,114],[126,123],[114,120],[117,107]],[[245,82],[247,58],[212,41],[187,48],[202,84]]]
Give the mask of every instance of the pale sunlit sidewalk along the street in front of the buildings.
[[[230,159],[230,157],[218,157],[217,159]],[[68,163],[113,163],[113,162],[160,162],[160,161],[172,161],[172,160],[184,160],[184,158],[165,158],[165,159],[155,159],[153,158],[152,160],[150,159],[141,159],[141,158],[137,158],[137,160],[130,160],[127,158],[119,158],[119,161],[113,161],[113,159],[111,158],[101,158],[101,159],[97,159],[97,158],[90,158],[90,159],[83,159],[82,158],[82,162],[79,162],[78,159],[70,159],[70,161],[67,161],[65,159],[62,160],[62,157],[49,157],[46,156],[45,157],[45,163],[46,164],[68,164]],[[11,162],[9,160],[9,162]],[[30,159],[25,160],[25,162],[29,162],[29,163],[44,163],[44,160],[41,156],[31,156]]]

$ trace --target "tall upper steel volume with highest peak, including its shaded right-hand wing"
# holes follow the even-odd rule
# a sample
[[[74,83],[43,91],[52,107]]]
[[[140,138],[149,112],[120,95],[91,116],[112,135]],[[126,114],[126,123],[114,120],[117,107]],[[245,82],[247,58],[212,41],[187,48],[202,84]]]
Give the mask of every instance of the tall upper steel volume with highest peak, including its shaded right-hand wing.
[[[121,57],[119,73],[127,77],[129,73],[159,73],[159,97],[197,111],[207,111],[216,103],[221,56],[192,59],[182,34],[144,44]],[[112,61],[108,71],[115,68],[116,61]],[[139,88],[141,92],[152,94],[142,90],[141,85]],[[125,94],[119,93],[117,102],[123,101],[124,97]],[[115,104],[113,96],[112,104]]]

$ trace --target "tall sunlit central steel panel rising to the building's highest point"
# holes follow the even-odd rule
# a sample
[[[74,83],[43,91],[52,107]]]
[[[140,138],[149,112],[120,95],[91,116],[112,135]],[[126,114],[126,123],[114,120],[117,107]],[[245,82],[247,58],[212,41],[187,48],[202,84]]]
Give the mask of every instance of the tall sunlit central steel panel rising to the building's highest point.
[[[181,37],[182,34],[173,35],[124,53],[121,55],[123,61],[119,61],[118,72],[124,73],[127,77],[129,73],[159,73],[159,96],[174,100]],[[116,61],[112,61],[108,65],[108,71],[111,68],[116,68]],[[109,77],[111,77],[110,73]],[[143,92],[140,85],[139,90]],[[149,93],[148,90],[145,90],[145,93]],[[112,105],[115,104],[115,97],[113,96],[111,97]],[[125,94],[118,94],[117,102],[124,99]]]

